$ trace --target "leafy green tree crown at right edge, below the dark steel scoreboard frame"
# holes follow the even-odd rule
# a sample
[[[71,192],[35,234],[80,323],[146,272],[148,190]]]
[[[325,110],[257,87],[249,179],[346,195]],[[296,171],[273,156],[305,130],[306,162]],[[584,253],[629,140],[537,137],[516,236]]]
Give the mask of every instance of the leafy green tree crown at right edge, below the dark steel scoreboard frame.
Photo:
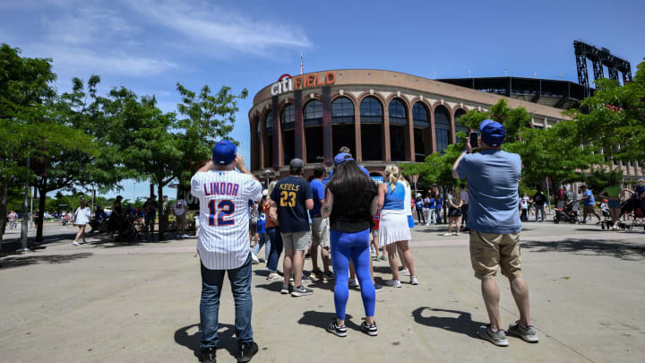
[[[603,148],[610,159],[645,160],[645,62],[633,82],[621,86],[601,79],[596,88],[581,108],[567,111],[578,126],[579,142]]]

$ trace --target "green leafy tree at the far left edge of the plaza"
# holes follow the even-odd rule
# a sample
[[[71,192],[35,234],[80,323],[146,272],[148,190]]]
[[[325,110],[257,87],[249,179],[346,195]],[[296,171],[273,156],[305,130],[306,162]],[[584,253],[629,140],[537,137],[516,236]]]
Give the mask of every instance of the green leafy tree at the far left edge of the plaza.
[[[52,72],[51,59],[23,58],[20,52],[6,44],[0,46],[2,216],[6,215],[9,189],[25,178],[34,179],[34,170],[26,168],[26,160],[33,160],[32,164],[39,166],[47,160],[47,152],[81,150],[87,144],[82,132],[55,122],[56,91],[51,83],[56,80],[56,74]],[[4,222],[0,225],[4,232]],[[0,248],[1,244],[0,235]]]

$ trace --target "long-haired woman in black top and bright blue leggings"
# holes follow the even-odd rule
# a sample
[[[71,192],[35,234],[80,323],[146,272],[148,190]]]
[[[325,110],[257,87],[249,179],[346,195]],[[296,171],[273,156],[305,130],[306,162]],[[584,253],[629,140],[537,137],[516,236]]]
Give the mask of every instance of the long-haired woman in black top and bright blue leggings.
[[[374,181],[358,168],[356,161],[346,155],[334,168],[321,209],[322,217],[329,217],[331,223],[331,264],[336,274],[336,319],[327,327],[327,331],[340,337],[347,336],[345,308],[349,297],[348,268],[351,259],[356,267],[366,313],[361,331],[375,336],[378,334],[374,322],[376,292],[370,276],[369,232],[374,224],[377,191]],[[334,160],[339,156],[341,154]]]

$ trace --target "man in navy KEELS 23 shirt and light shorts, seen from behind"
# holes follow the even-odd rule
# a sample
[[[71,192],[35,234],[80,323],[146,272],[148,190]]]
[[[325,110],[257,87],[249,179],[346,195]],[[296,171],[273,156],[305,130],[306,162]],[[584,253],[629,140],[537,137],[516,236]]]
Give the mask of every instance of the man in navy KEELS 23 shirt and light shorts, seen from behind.
[[[289,162],[289,176],[282,178],[271,192],[269,217],[280,223],[280,234],[285,249],[283,259],[284,284],[280,293],[291,293],[292,297],[311,295],[314,290],[302,286],[303,262],[311,242],[308,210],[314,208],[311,186],[302,177],[305,163],[300,159]],[[295,287],[291,288],[289,278],[294,274]]]

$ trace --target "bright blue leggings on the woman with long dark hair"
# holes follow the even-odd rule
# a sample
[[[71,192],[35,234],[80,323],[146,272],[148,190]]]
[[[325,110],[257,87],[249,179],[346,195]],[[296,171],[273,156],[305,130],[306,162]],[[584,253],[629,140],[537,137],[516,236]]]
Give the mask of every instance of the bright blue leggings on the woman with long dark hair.
[[[345,233],[338,229],[330,231],[331,264],[336,274],[334,286],[334,305],[336,318],[345,320],[345,308],[349,298],[349,259],[351,258],[356,268],[358,282],[361,286],[361,297],[366,316],[374,316],[376,305],[376,291],[370,275],[370,248],[369,229]]]

